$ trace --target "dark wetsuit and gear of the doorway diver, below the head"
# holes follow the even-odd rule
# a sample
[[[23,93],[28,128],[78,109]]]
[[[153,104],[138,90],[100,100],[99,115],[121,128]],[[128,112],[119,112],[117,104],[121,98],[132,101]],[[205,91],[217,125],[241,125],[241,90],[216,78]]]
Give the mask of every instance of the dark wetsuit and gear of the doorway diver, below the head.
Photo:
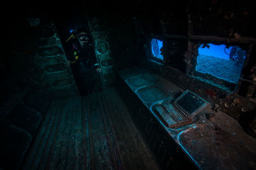
[[[71,61],[70,68],[74,74],[77,87],[82,96],[100,90],[100,76],[96,69],[99,67],[95,57],[93,44],[88,42],[81,47],[77,38],[70,39],[66,48],[67,59]]]

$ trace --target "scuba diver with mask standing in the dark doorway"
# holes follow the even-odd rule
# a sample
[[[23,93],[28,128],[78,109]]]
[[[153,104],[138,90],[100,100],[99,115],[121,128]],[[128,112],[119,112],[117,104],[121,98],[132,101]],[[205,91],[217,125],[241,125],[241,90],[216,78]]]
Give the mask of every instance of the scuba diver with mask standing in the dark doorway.
[[[82,96],[101,91],[100,67],[97,63],[92,38],[83,27],[72,31],[65,42],[67,67],[70,67]]]

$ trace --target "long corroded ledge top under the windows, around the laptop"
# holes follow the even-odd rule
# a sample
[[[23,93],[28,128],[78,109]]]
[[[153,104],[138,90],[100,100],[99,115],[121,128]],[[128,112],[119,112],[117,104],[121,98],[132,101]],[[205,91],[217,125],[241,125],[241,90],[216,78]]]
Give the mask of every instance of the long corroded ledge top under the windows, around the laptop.
[[[246,134],[234,118],[207,106],[191,124],[170,129],[157,117],[154,108],[172,102],[184,89],[145,69],[125,69],[118,75],[198,169],[256,168],[256,139]]]

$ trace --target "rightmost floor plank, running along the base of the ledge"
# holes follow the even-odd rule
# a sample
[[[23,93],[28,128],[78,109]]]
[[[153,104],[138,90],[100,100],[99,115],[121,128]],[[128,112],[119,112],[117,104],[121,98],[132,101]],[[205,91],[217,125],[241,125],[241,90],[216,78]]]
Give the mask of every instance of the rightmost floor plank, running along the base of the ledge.
[[[115,131],[125,169],[157,169],[152,154],[132,123],[129,111],[116,90],[108,89],[103,93],[103,101],[109,108],[109,120]]]

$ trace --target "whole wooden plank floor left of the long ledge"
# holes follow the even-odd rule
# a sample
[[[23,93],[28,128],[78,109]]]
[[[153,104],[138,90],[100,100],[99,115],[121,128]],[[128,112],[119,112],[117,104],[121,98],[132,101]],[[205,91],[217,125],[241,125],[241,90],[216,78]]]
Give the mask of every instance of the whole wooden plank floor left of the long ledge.
[[[115,89],[51,103],[22,169],[158,169]]]

